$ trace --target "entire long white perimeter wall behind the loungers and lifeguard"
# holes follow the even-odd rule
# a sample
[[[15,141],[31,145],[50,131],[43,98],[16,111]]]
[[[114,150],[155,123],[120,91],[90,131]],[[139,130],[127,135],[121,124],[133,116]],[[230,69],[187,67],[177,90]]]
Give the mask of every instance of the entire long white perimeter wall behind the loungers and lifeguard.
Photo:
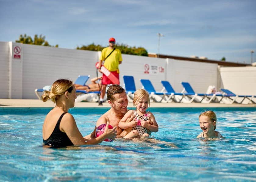
[[[20,59],[13,58],[14,46],[21,47]],[[75,81],[78,75],[90,75],[91,78],[96,76],[96,51],[0,42],[0,54],[0,98],[36,99],[34,89],[51,85],[56,79]],[[183,89],[181,81],[189,82],[197,93],[205,93],[209,85],[218,87],[218,83],[222,82],[225,88],[235,93],[255,94],[256,79],[252,79],[256,76],[255,67],[221,68],[219,81],[218,65],[215,63],[125,54],[122,57],[123,62],[119,66],[121,86],[122,75],[131,75],[134,76],[137,89],[142,87],[140,79],[151,80],[156,91],[162,90],[160,80],[168,80],[176,92]],[[150,67],[148,73],[145,73],[146,64]],[[151,68],[154,66],[157,70],[152,72]],[[235,76],[236,79],[230,79],[230,76]],[[234,80],[239,81],[239,84],[234,84]]]

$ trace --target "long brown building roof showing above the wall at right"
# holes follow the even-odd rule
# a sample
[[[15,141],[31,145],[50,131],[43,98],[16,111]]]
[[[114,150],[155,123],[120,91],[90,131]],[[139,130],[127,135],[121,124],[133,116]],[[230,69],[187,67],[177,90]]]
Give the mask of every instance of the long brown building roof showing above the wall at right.
[[[170,59],[177,59],[177,60],[185,60],[185,61],[217,63],[220,66],[251,66],[251,64],[218,61],[218,60],[207,59],[206,57],[198,58],[197,56],[193,56],[193,58],[192,57],[182,57],[182,56],[170,56],[170,55],[164,55],[164,54],[159,54],[159,56],[157,56],[156,53],[148,53],[148,56],[155,57],[155,58],[158,57],[158,58],[170,58]]]

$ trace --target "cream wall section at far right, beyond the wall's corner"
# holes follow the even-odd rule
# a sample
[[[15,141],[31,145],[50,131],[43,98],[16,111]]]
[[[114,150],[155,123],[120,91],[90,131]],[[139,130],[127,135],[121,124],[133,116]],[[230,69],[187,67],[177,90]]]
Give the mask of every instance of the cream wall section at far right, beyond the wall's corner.
[[[221,82],[225,89],[239,95],[256,95],[256,67],[221,67]]]

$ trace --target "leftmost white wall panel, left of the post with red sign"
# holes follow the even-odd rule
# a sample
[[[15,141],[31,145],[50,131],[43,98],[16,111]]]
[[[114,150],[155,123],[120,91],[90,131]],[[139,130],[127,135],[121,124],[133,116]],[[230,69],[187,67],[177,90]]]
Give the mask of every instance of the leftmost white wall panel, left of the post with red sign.
[[[9,47],[8,42],[0,42],[0,98],[8,98]]]

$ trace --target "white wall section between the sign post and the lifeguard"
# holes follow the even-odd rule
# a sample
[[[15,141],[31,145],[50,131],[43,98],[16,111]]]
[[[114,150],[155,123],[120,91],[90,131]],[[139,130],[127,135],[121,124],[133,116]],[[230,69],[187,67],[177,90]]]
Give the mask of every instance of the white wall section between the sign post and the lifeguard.
[[[36,98],[34,89],[60,78],[73,81],[79,75],[96,76],[95,51],[23,45],[23,99]]]

